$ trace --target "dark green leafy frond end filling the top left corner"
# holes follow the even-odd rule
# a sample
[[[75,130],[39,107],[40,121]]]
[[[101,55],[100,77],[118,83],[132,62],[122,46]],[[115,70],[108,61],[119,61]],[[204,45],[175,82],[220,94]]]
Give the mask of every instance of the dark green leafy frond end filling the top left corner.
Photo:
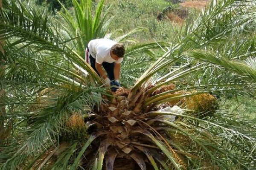
[[[49,17],[37,14],[30,7],[19,8],[18,5],[22,6],[21,3],[17,4],[11,1],[3,10],[5,19],[3,19],[4,22],[1,22],[1,27],[5,29],[1,29],[0,32],[4,34],[2,38],[8,40],[12,37],[20,37],[14,39],[9,47],[23,43],[26,43],[24,44],[26,47],[37,43],[44,44],[44,49],[60,51],[58,45],[63,44],[64,41],[58,39],[58,34],[55,35],[55,28],[49,26]]]

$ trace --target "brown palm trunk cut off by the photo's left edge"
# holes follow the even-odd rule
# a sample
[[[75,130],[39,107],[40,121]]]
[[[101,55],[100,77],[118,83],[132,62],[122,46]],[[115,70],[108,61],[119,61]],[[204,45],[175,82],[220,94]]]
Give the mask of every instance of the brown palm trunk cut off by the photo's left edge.
[[[3,3],[2,0],[0,0],[0,11],[2,10],[3,7]],[[1,15],[2,12],[0,12]],[[4,54],[4,50],[3,50],[3,45],[4,45],[4,41],[1,40],[3,35],[0,34],[0,79],[3,80],[4,79],[4,75],[5,75],[5,60],[3,59],[3,54]],[[3,99],[4,96],[6,94],[5,88],[3,87],[3,83],[0,84],[0,99]],[[5,120],[3,119],[6,115],[6,106],[2,105],[2,103],[0,102],[0,144],[2,144],[3,140],[5,139],[5,127],[4,127],[4,123]]]

